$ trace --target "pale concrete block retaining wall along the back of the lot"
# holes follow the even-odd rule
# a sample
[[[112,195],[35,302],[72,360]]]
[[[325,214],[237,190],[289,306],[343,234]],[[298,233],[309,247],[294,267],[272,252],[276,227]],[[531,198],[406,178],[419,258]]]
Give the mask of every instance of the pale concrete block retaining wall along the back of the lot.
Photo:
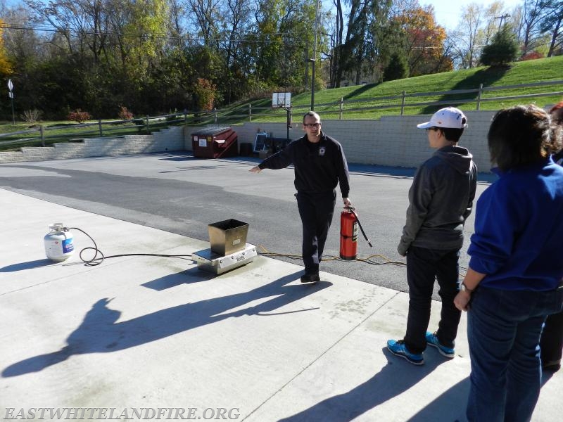
[[[460,145],[469,148],[480,172],[491,167],[487,148],[487,132],[495,112],[469,111],[469,127]],[[322,116],[321,116],[322,117]],[[385,116],[379,120],[322,120],[322,129],[338,139],[348,162],[396,167],[417,167],[434,152],[428,146],[426,133],[417,124],[429,120],[429,115]],[[301,117],[294,116],[289,138],[303,136]],[[270,132],[285,138],[286,123],[246,122],[233,125],[241,143],[254,143],[257,132]],[[171,127],[152,135],[127,135],[124,138],[84,139],[80,143],[56,143],[53,147],[25,147],[18,152],[0,152],[0,162],[60,160],[65,158],[99,157],[191,151],[191,133],[205,127]]]

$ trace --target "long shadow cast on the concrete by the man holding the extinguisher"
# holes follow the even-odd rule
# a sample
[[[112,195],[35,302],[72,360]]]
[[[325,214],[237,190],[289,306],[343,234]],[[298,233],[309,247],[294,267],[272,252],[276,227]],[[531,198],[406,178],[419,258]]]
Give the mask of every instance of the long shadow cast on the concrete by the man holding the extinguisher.
[[[121,312],[108,307],[110,299],[98,300],[84,316],[82,324],[70,333],[65,347],[56,352],[16,362],[4,369],[2,376],[11,377],[42,371],[48,366],[65,361],[74,354],[124,350],[227,318],[243,315],[267,315],[263,312],[271,312],[332,285],[327,281],[320,281],[315,284],[287,286],[298,279],[298,274],[301,274],[301,271],[281,277],[281,279],[248,292],[160,309],[151,314],[122,322],[116,322]],[[241,307],[253,300],[271,296],[276,297],[259,305],[228,312],[229,309]]]

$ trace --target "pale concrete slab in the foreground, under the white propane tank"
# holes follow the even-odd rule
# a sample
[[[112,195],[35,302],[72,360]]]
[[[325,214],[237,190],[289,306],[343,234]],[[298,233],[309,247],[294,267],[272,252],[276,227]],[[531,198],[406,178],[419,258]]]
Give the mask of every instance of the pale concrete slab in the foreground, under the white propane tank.
[[[262,256],[220,276],[189,257],[86,267],[78,252],[91,241],[76,230],[75,254],[57,264],[43,246],[52,222],[86,231],[106,256],[191,255],[208,243],[6,190],[0,209],[2,418],[79,407],[97,410],[71,417],[465,419],[465,314],[455,359],[429,348],[417,367],[385,347],[404,334],[406,293],[328,273],[302,285],[301,266]],[[563,414],[562,388],[561,371],[545,381],[533,421]]]

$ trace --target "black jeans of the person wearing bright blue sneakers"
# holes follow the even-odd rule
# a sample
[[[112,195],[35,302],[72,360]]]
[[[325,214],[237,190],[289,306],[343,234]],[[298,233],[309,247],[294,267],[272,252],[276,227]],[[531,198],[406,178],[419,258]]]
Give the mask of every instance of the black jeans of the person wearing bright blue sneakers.
[[[454,347],[461,311],[453,300],[458,292],[460,249],[437,250],[411,246],[407,253],[407,281],[409,284],[409,316],[405,345],[411,353],[426,349],[426,330],[430,321],[430,307],[434,280],[438,281],[438,295],[442,298],[437,336],[446,347]]]

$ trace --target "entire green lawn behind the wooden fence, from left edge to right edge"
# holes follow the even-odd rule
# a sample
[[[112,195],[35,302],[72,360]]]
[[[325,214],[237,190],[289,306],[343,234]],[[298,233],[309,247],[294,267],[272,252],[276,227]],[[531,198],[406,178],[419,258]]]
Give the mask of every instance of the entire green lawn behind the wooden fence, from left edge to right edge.
[[[511,85],[530,84],[534,82],[561,81],[563,79],[563,56],[552,58],[541,58],[538,60],[528,60],[524,62],[512,63],[506,68],[474,68],[467,70],[457,70],[454,72],[444,72],[435,75],[426,75],[399,79],[382,84],[369,84],[356,87],[345,87],[338,89],[322,89],[315,92],[315,111],[320,113],[324,119],[339,118],[339,101],[343,98],[343,119],[374,119],[382,115],[398,115],[400,113],[400,98],[386,99],[381,97],[400,96],[403,91],[407,94],[433,93],[422,96],[407,97],[405,101],[405,114],[431,114],[435,110],[447,104],[448,106],[460,106],[463,110],[476,110],[476,103],[465,103],[468,99],[474,100],[476,93],[465,93],[446,95],[443,91],[460,89],[479,89],[483,87],[507,87]],[[563,98],[563,94],[553,94],[539,96],[552,92],[563,91],[563,84],[554,84],[547,87],[525,87],[509,88],[500,91],[483,92],[481,98],[484,100],[481,110],[499,110],[507,106],[520,103],[536,103],[538,106],[546,106],[557,103]],[[501,96],[520,96],[529,95],[529,98],[519,99],[498,99],[486,101],[487,98]],[[536,95],[536,96],[534,96]],[[310,92],[304,92],[291,98],[292,112],[294,115],[303,115],[310,109]],[[428,103],[433,101],[443,101],[443,105],[413,105],[415,103]],[[272,98],[263,98],[255,101],[247,101],[237,106],[232,106],[224,110],[218,110],[219,124],[236,124],[248,121],[248,106],[252,106],[253,122],[283,122],[286,120],[285,110],[273,110]],[[390,105],[395,105],[388,107]],[[197,119],[197,120],[196,120]],[[213,115],[207,117],[191,117],[188,124],[203,125],[215,122]],[[46,145],[53,142],[69,141],[70,139],[82,137],[99,136],[96,126],[78,128],[76,124],[70,122],[42,122],[46,128]],[[165,125],[166,122],[163,122]],[[182,122],[179,122],[182,124]],[[65,128],[49,130],[49,127]],[[0,123],[0,134],[15,132],[28,129],[29,124],[25,122]],[[162,125],[160,125],[162,127]],[[159,127],[152,127],[151,130],[158,130]],[[113,127],[104,126],[103,136],[123,136],[125,134],[146,133],[146,129],[136,124],[117,124]],[[32,134],[22,134],[13,136],[13,139],[25,138],[27,136],[37,136]],[[13,149],[13,146],[3,146],[0,138],[0,150]],[[30,141],[30,145],[37,145],[37,141]],[[40,144],[40,142],[39,142]]]

